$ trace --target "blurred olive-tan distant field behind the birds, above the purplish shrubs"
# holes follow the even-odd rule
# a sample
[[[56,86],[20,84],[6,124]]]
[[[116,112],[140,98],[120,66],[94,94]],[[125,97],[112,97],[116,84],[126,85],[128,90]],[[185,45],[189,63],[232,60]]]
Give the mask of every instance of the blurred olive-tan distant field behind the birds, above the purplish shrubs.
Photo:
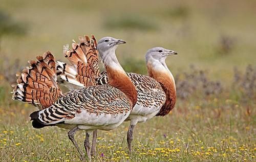
[[[174,74],[194,64],[228,82],[234,66],[256,62],[255,1],[0,2],[1,54],[22,65],[46,50],[66,61],[62,45],[84,34],[127,41],[120,63],[144,74],[144,54],[156,46],[179,53],[167,59]]]

